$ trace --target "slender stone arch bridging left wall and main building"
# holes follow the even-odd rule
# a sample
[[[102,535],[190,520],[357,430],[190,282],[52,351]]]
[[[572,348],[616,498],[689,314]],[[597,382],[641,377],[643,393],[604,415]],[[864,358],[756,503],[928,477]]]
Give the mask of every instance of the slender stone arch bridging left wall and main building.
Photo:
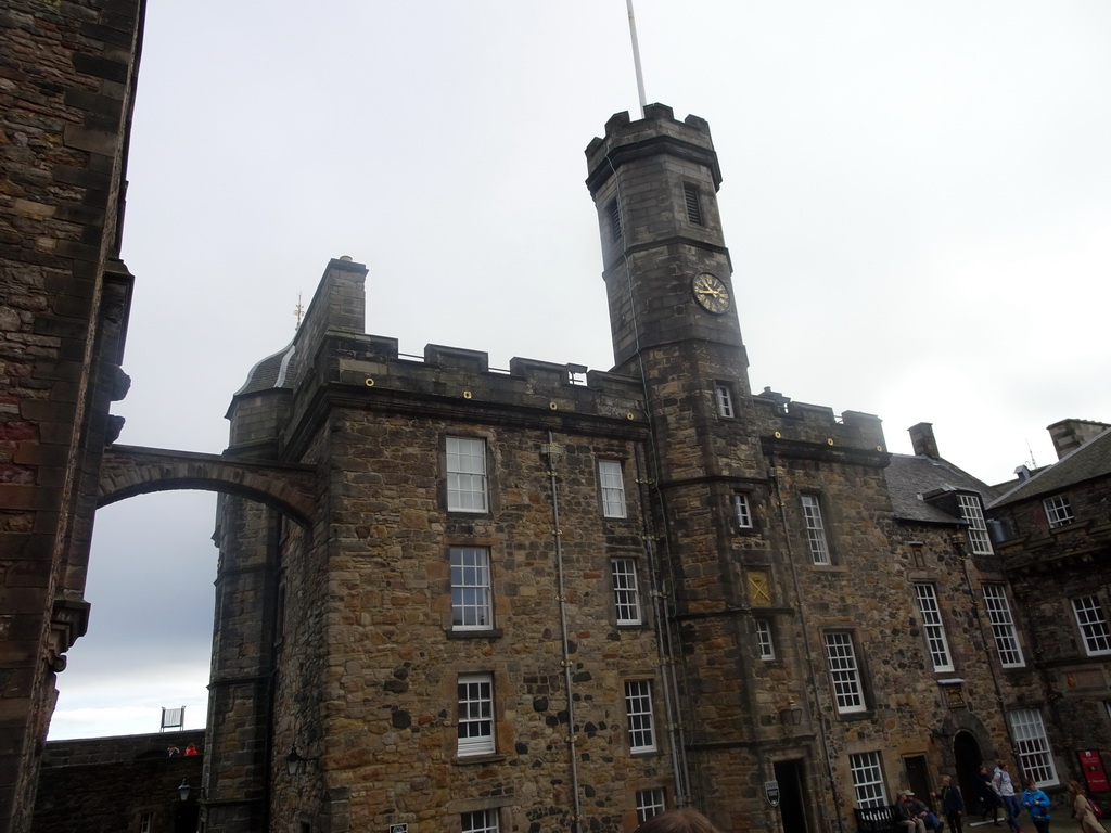
[[[200,489],[266,503],[307,525],[316,506],[316,476],[314,466],[299,463],[109,445],[100,469],[97,506],[137,494]]]

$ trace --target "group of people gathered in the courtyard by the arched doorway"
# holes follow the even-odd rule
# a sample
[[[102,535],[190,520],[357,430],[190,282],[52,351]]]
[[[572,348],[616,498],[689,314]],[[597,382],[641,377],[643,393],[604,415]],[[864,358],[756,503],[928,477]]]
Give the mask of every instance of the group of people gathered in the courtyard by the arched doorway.
[[[999,811],[1002,809],[1007,813],[1007,825],[1012,833],[1022,833],[1019,816],[1024,810],[1030,815],[1030,821],[1033,822],[1038,833],[1049,833],[1052,802],[1032,777],[1027,779],[1027,787],[1019,795],[1015,792],[1014,782],[1011,781],[1005,761],[1000,761],[991,774],[988,773],[985,766],[980,767],[977,791],[980,800],[981,821],[987,822],[988,815],[991,815],[995,825],[999,825]],[[1083,833],[1107,833],[1095,815],[1094,805],[1088,800],[1079,782],[1069,782],[1069,795],[1072,801],[1072,817],[1080,824]],[[937,794],[931,793],[930,797],[935,797],[941,802],[941,811],[945,821],[949,822],[950,833],[963,833],[964,799],[949,775],[941,779],[941,791]],[[918,801],[910,790],[904,790],[900,794],[899,802],[895,804],[895,815],[897,821],[908,829],[908,833],[930,833],[931,831],[940,833],[944,827],[944,823],[938,819],[931,807]]]

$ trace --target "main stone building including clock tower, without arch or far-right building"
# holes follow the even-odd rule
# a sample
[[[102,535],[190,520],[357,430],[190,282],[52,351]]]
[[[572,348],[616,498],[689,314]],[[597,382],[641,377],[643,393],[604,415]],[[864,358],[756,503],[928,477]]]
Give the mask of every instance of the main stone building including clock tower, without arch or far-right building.
[[[228,454],[320,498],[221,500],[207,830],[847,831],[998,760],[1063,785],[1001,492],[929,424],[891,454],[751,392],[703,120],[587,158],[611,371],[399,355],[344,258],[233,398]]]

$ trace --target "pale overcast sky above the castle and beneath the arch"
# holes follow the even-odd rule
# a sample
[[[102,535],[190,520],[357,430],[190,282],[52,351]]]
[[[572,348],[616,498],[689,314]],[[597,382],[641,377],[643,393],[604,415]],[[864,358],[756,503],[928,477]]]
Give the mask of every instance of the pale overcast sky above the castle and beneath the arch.
[[[609,369],[583,149],[639,114],[623,0],[153,0],[120,442],[220,452],[330,258],[368,331]],[[638,0],[647,98],[709,120],[754,391],[928,421],[989,482],[1111,421],[1111,4]],[[51,737],[204,723],[214,498],[97,515]]]

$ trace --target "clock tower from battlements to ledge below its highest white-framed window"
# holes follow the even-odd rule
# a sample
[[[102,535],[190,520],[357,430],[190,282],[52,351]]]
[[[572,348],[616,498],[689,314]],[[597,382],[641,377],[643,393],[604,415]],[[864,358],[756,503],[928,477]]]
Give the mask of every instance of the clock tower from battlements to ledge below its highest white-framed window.
[[[678,121],[663,104],[644,108],[639,121],[617,113],[587,160],[614,372],[645,384],[660,485],[761,476],[710,126],[697,116]]]

